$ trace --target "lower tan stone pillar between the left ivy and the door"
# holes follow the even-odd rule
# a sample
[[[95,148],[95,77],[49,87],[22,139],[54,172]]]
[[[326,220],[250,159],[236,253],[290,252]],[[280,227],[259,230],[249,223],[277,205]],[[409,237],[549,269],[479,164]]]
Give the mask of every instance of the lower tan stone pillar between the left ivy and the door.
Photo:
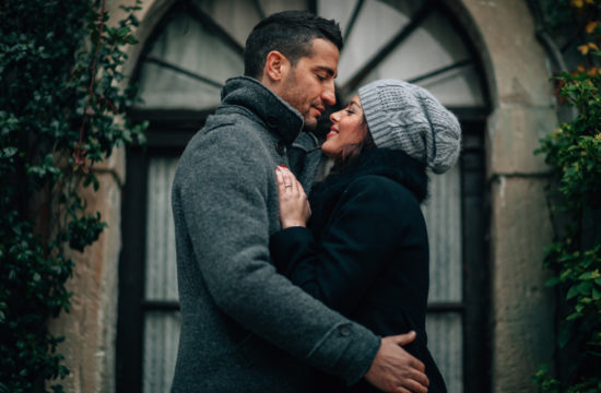
[[[66,392],[115,391],[115,338],[117,330],[118,261],[121,250],[121,188],[125,181],[125,152],[94,167],[101,183],[97,192],[83,190],[90,212],[101,212],[108,224],[99,239],[83,253],[73,251],[71,310],[50,323],[56,335],[67,341],[58,348],[64,355],[69,377],[61,383]]]

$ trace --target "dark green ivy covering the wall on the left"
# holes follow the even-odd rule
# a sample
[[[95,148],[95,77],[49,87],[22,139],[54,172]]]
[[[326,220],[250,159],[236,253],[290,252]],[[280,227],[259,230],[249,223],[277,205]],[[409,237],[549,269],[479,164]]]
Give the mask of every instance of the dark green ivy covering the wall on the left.
[[[81,191],[115,146],[143,141],[123,118],[135,92],[118,87],[138,9],[109,26],[104,0],[0,3],[0,392],[62,392],[47,322],[69,311],[70,250],[106,226]]]

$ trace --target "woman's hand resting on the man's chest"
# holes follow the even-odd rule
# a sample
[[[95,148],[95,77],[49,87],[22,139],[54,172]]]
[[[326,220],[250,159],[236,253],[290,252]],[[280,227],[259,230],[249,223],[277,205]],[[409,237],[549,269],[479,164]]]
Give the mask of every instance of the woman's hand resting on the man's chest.
[[[275,179],[278,180],[282,228],[305,226],[311,216],[311,209],[303,186],[296,180],[294,174],[284,166],[278,166]]]

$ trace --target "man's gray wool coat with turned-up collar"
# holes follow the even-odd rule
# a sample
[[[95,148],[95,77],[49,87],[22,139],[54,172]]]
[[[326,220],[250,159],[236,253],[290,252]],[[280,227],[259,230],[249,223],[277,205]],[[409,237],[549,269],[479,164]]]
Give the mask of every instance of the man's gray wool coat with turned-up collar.
[[[274,170],[310,186],[320,152],[303,118],[261,83],[228,80],[222,105],[175,176],[181,335],[173,392],[310,392],[309,366],[346,383],[368,370],[379,337],[276,273]],[[291,159],[291,158],[295,159]]]

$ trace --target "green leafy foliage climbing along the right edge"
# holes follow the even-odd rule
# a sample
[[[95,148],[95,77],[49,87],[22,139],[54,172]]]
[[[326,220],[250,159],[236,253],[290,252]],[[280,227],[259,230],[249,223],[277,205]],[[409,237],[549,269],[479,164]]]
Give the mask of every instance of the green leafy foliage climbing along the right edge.
[[[582,59],[557,78],[559,99],[576,116],[538,151],[556,175],[552,211],[565,223],[545,265],[554,272],[547,285],[563,297],[557,353],[568,369],[543,367],[534,379],[542,392],[601,392],[601,2],[553,5],[556,27],[578,40]]]

